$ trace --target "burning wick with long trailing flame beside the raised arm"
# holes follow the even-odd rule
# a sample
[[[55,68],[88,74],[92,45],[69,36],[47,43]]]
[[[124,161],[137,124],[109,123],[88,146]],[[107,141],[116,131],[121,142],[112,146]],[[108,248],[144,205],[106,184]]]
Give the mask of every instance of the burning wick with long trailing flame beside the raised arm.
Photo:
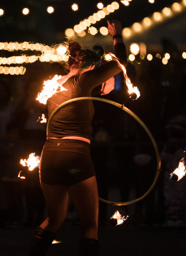
[[[123,64],[121,64],[119,62],[119,59],[114,54],[110,53],[110,55],[117,61],[118,66],[123,70],[123,75],[124,75],[124,78],[125,78],[126,86],[129,89],[128,90],[128,93],[129,93],[129,98],[128,99],[131,99],[131,100],[138,99],[140,97],[140,91],[136,86],[133,87],[133,84],[131,83],[131,80],[127,77],[126,68],[123,66]],[[126,100],[125,100],[125,102],[126,102]],[[123,103],[122,107],[124,106],[124,103]]]

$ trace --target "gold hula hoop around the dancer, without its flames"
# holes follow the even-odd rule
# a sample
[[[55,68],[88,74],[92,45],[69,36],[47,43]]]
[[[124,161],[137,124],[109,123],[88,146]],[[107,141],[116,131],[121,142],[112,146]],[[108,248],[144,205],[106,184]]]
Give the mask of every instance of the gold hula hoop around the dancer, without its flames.
[[[57,106],[57,108],[55,108],[54,111],[51,113],[51,115],[50,115],[50,117],[48,119],[48,122],[47,122],[47,134],[48,134],[48,130],[49,130],[50,121],[51,121],[53,115],[59,109],[61,109],[64,105],[66,105],[68,103],[71,103],[73,101],[80,101],[80,100],[97,100],[97,101],[102,101],[102,102],[106,102],[106,103],[109,103],[111,105],[114,105],[114,106],[116,106],[116,107],[121,109],[121,104],[119,104],[119,103],[117,103],[115,101],[111,101],[111,100],[107,100],[107,99],[102,99],[102,98],[97,98],[97,97],[80,97],[80,98],[74,98],[74,99],[71,99],[71,100],[67,100],[67,101],[63,102],[62,104],[60,104],[59,106]],[[153,144],[155,153],[156,153],[157,169],[156,169],[155,179],[154,179],[152,185],[150,186],[150,188],[147,190],[147,192],[143,196],[141,196],[139,198],[136,198],[135,200],[128,201],[128,202],[112,202],[112,201],[105,200],[105,199],[99,197],[100,201],[102,201],[102,202],[104,202],[106,204],[111,204],[111,205],[130,205],[130,204],[134,204],[135,202],[138,202],[138,201],[142,200],[143,198],[145,198],[150,193],[150,191],[154,188],[154,186],[155,186],[155,184],[157,182],[159,173],[161,171],[161,169],[160,169],[160,167],[161,167],[161,159],[160,159],[160,155],[159,155],[157,144],[155,142],[155,139],[154,139],[152,133],[149,131],[147,126],[144,124],[144,122],[136,114],[134,114],[130,109],[127,109],[125,106],[123,106],[122,110],[125,111],[126,113],[128,113],[129,115],[131,115],[143,127],[145,132],[148,134],[148,136],[150,138],[150,141]]]

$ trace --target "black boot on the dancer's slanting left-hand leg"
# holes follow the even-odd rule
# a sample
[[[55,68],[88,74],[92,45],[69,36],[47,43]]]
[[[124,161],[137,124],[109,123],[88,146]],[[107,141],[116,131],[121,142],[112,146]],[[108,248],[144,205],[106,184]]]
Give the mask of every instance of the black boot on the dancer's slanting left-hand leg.
[[[28,256],[44,256],[53,242],[54,237],[55,234],[38,226],[32,238]]]

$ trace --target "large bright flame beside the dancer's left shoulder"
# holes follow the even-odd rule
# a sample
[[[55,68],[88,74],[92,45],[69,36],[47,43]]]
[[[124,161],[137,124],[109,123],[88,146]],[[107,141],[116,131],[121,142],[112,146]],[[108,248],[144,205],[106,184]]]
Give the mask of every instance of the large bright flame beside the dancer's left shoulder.
[[[51,80],[44,81],[43,90],[38,93],[36,100],[39,100],[40,103],[46,104],[47,100],[56,92],[67,91],[67,89],[57,82],[60,78],[61,76],[55,75]]]

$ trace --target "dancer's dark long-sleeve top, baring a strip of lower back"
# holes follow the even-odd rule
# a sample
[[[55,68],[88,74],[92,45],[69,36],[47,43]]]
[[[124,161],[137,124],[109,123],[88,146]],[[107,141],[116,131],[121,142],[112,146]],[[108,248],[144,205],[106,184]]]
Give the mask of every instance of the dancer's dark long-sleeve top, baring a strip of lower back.
[[[114,46],[114,54],[125,67],[127,65],[125,45],[118,43]],[[48,99],[48,117],[57,105],[78,97],[91,97],[91,91],[109,78],[121,72],[116,61],[70,77],[62,85],[66,91],[57,92]],[[58,110],[50,122],[48,137],[62,138],[79,136],[90,140],[92,134],[92,119],[94,106],[91,100],[74,101]]]

